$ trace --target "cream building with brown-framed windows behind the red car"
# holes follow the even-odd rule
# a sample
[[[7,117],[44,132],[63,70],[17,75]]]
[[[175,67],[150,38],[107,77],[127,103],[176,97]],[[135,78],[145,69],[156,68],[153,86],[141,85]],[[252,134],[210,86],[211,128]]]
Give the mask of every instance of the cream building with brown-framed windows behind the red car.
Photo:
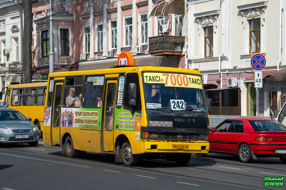
[[[254,54],[265,56],[263,84],[285,68],[285,1],[187,1],[188,69],[202,73],[211,115],[270,116],[285,91],[254,86]]]

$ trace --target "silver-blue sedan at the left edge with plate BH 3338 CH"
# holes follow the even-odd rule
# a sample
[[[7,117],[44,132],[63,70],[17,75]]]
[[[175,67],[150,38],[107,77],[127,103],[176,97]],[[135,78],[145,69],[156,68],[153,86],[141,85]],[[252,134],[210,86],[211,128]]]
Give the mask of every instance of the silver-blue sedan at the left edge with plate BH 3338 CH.
[[[19,111],[0,108],[0,145],[7,143],[28,143],[36,146],[39,141],[39,129]]]

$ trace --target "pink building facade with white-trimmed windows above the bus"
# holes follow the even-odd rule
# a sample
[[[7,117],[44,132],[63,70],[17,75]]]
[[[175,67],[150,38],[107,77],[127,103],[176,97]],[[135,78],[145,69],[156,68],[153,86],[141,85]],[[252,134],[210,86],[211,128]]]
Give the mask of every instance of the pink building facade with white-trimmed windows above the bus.
[[[49,3],[33,2],[34,72],[47,75]],[[54,72],[108,68],[121,52],[132,53],[136,65],[185,67],[184,15],[149,17],[161,2],[52,1]]]

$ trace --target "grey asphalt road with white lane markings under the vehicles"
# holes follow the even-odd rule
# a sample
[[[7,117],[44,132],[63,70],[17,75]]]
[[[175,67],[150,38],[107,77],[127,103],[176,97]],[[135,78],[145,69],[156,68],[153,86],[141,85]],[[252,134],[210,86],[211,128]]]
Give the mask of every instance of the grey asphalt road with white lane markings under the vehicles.
[[[263,187],[264,176],[285,176],[278,158],[241,163],[238,157],[192,155],[187,165],[140,160],[136,167],[111,155],[61,156],[61,148],[9,144],[0,148],[0,190],[25,189],[285,189]],[[286,180],[284,181],[286,182]]]

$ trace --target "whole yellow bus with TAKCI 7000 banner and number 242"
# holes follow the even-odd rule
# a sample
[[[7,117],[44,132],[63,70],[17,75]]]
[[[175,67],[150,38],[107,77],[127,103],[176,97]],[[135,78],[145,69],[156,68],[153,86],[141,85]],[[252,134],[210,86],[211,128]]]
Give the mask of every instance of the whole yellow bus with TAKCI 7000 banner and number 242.
[[[199,71],[118,65],[49,73],[43,141],[68,157],[86,151],[190,161],[208,153],[209,118]],[[209,102],[208,102],[209,103]]]

